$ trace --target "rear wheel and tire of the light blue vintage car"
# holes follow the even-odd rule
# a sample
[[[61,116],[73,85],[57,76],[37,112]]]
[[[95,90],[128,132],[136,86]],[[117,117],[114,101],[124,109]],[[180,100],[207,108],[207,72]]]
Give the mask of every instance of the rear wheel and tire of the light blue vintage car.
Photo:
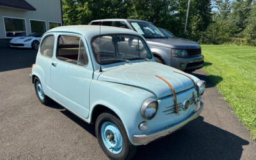
[[[35,91],[38,99],[42,104],[49,104],[51,102],[51,99],[47,97],[47,95],[44,94],[44,90],[42,88],[42,84],[38,77],[35,77],[34,79],[34,86],[35,86]]]

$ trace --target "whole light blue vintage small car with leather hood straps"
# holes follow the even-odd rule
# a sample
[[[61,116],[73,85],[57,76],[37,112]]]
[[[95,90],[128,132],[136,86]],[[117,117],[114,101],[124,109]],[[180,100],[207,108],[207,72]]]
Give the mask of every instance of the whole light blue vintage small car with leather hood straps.
[[[51,29],[30,77],[42,104],[54,100],[95,124],[111,159],[131,159],[136,146],[177,131],[204,107],[205,81],[156,63],[145,38],[131,29]]]

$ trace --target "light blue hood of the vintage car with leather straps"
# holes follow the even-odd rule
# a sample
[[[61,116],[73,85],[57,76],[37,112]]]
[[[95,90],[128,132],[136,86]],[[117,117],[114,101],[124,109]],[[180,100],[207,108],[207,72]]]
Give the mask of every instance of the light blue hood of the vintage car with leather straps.
[[[98,80],[142,88],[153,93],[158,98],[166,97],[173,93],[168,84],[156,77],[156,75],[163,77],[172,84],[176,93],[193,87],[193,82],[188,77],[173,72],[173,70],[182,71],[153,61],[126,63],[118,67],[103,68],[103,70]],[[191,77],[198,81],[196,77]]]

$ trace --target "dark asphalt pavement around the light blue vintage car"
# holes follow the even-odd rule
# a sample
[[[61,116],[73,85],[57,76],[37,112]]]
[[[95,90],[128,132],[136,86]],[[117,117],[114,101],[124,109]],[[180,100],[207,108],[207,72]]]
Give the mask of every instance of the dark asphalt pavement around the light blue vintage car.
[[[28,76],[35,57],[33,50],[0,48],[0,159],[107,159],[93,125],[56,103],[39,102]],[[256,159],[250,132],[204,70],[194,75],[207,81],[202,115],[180,131],[138,147],[134,159]]]

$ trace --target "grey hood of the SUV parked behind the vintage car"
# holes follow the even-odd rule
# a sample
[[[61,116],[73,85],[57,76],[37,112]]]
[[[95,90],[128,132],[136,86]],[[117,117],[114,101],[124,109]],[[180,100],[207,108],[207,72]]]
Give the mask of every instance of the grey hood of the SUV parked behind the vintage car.
[[[168,47],[175,49],[198,49],[200,45],[191,40],[186,40],[183,38],[147,38],[148,45],[157,46],[157,47]]]

